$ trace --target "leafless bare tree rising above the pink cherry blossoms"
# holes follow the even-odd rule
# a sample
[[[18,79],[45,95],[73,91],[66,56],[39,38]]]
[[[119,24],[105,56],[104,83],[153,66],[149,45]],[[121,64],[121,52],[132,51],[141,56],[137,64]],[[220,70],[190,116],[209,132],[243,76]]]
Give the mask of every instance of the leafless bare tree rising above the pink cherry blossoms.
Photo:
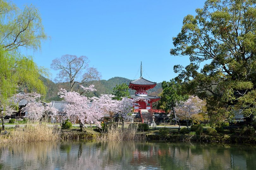
[[[56,80],[58,82],[68,81],[70,91],[73,91],[75,84],[83,85],[86,82],[99,80],[101,74],[94,67],[89,67],[89,60],[86,56],[63,55],[52,60],[51,68],[59,70]]]

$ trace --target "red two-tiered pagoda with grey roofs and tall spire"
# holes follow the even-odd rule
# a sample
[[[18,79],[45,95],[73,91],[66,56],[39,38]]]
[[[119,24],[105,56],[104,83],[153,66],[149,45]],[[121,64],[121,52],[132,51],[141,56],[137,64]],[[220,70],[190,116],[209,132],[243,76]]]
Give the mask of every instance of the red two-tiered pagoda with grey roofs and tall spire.
[[[156,86],[156,82],[151,82],[142,77],[142,62],[140,64],[140,78],[137,80],[131,81],[129,84],[129,88],[136,90],[135,95],[131,96],[131,99],[135,98],[144,98],[149,99],[148,103],[143,100],[139,100],[136,102],[134,109],[152,109],[152,103],[160,100],[158,96],[150,96],[147,93],[147,90],[154,88]]]

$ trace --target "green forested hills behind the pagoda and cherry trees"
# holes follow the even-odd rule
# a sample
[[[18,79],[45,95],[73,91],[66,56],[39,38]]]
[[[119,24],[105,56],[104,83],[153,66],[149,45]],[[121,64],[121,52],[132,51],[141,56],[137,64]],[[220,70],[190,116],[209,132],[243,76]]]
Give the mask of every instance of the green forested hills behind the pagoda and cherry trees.
[[[68,89],[68,83],[63,82],[63,83],[54,83],[51,80],[41,77],[40,78],[44,84],[47,87],[47,94],[46,94],[46,101],[51,101],[51,100],[60,100],[58,97],[58,91],[60,88],[67,88]],[[123,77],[113,77],[108,80],[99,80],[99,81],[94,81],[92,84],[94,84],[95,88],[97,89],[96,94],[111,94],[113,93],[113,88],[116,87],[117,84],[122,84],[126,83],[129,85],[130,79],[123,78]],[[148,90],[149,95],[159,95],[159,93],[162,92],[162,83],[157,83],[155,88]],[[134,94],[134,90],[130,90],[131,95]]]

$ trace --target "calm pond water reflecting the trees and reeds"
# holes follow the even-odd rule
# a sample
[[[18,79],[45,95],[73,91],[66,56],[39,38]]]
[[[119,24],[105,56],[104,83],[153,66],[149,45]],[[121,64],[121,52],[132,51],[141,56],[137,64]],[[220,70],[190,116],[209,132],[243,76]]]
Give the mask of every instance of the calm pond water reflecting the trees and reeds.
[[[159,142],[33,143],[0,148],[0,169],[254,169],[255,149]]]

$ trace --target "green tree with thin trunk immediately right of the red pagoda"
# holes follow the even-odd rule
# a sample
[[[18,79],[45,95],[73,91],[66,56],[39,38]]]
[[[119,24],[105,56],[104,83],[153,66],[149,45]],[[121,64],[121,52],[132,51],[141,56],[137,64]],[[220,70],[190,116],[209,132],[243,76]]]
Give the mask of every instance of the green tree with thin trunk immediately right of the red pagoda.
[[[177,116],[174,108],[177,103],[188,99],[188,95],[184,94],[184,89],[180,82],[174,79],[170,80],[170,82],[163,81],[162,89],[163,91],[158,108],[164,109],[166,112],[172,111],[175,124],[177,124]]]

